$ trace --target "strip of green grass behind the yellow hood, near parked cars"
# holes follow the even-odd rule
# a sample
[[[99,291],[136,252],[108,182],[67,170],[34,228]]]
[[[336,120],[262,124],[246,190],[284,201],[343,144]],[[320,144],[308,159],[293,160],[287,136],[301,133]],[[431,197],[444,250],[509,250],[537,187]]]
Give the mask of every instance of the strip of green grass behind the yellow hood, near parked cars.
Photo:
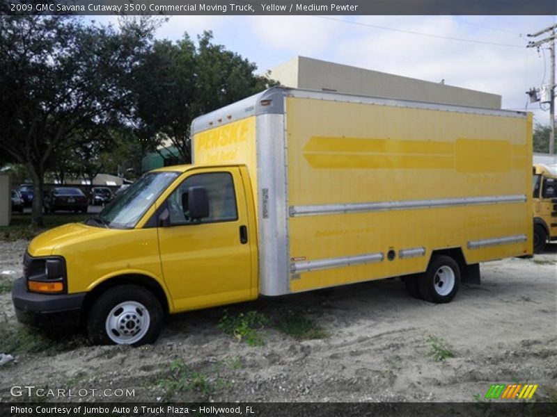
[[[31,226],[30,214],[13,214],[9,226],[0,226],[0,240],[13,242],[13,240],[31,240],[43,231],[61,226],[66,223],[83,222],[88,214],[43,214],[44,227]]]

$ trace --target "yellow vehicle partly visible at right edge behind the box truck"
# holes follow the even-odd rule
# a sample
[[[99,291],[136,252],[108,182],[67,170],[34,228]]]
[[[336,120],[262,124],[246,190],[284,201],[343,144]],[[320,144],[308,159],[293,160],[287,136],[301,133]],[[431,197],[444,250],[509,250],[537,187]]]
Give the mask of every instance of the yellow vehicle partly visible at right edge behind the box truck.
[[[544,252],[557,239],[557,165],[537,164],[532,177],[534,204],[534,252]]]

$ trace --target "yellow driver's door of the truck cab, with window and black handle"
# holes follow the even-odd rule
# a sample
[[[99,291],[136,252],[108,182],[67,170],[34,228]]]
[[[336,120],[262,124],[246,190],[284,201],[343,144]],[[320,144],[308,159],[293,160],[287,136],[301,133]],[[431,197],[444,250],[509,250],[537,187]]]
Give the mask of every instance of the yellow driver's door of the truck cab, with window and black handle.
[[[210,214],[189,218],[187,193],[207,190]],[[240,170],[194,170],[168,196],[159,252],[175,311],[251,300],[251,245]],[[253,236],[253,235],[252,235]]]

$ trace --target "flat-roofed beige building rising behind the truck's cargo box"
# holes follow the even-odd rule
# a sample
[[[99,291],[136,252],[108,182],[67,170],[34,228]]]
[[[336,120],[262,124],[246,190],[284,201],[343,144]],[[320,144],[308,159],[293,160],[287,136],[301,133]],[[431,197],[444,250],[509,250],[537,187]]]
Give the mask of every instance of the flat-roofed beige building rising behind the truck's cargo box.
[[[457,106],[501,108],[500,95],[329,63],[304,56],[297,56],[272,68],[270,72],[272,79],[292,88]]]

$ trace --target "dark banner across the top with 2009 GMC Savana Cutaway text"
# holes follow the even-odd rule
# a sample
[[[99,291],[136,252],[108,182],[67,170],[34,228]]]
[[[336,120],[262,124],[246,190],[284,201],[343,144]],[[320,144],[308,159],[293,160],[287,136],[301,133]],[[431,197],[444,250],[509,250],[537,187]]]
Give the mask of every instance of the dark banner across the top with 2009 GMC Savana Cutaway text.
[[[0,14],[557,15],[557,0],[0,0]]]

